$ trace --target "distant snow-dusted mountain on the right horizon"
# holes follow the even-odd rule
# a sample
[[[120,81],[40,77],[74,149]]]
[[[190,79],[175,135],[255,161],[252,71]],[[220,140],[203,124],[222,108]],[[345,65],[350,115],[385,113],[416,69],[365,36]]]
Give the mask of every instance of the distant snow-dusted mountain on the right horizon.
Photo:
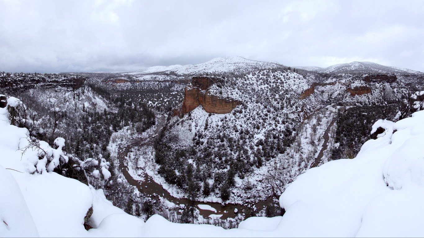
[[[335,64],[326,68],[313,66],[296,66],[297,69],[317,71],[318,73],[394,73],[394,74],[423,74],[422,72],[393,66],[384,66],[373,62],[350,62]]]

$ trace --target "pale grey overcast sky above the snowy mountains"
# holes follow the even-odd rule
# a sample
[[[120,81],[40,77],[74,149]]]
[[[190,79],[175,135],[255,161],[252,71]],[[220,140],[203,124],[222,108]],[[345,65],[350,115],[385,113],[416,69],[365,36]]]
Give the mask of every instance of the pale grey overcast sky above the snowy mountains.
[[[242,56],[424,72],[424,1],[0,0],[0,71],[132,71]]]

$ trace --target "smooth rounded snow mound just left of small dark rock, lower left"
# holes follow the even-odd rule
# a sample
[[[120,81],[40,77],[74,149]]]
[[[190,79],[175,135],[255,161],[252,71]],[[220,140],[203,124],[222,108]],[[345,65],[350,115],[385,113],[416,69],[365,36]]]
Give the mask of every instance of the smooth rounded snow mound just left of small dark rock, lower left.
[[[56,173],[24,174],[18,181],[40,236],[85,236],[84,217],[93,200],[86,185]]]

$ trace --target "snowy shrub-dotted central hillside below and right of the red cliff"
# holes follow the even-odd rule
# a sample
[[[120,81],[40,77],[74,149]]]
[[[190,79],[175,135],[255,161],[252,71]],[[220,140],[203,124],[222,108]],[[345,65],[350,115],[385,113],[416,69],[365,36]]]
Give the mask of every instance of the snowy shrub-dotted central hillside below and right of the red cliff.
[[[220,197],[223,202],[241,204],[266,199],[271,190],[259,181],[270,176],[269,171],[279,173],[274,167],[283,164],[290,170],[308,167],[318,154],[319,148],[305,150],[301,159],[296,156],[289,162],[293,155],[286,151],[301,122],[323,107],[319,92],[299,99],[313,80],[292,71],[261,70],[211,86],[208,94],[232,98],[239,105],[227,114],[207,113],[199,106],[182,118],[172,118],[160,143],[163,146],[156,150],[155,160],[161,167],[155,173],[170,188],[183,189],[189,161],[196,174],[204,174],[196,178],[199,190],[209,190],[210,185],[210,194],[204,193],[206,201]],[[231,191],[229,196],[225,189]]]

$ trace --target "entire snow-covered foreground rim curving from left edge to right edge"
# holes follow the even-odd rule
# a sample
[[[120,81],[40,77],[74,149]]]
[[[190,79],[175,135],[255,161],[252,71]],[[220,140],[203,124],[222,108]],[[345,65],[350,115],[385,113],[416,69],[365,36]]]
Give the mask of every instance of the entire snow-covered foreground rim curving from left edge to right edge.
[[[9,98],[10,99],[10,98]],[[15,100],[14,98],[12,98]],[[0,234],[25,237],[422,237],[424,112],[385,126],[352,160],[307,170],[280,197],[283,217],[248,218],[239,229],[146,222],[108,202],[102,190],[35,172],[38,148],[22,154],[28,130],[0,109]],[[394,133],[393,133],[394,132]],[[65,142],[66,143],[66,142]],[[60,147],[60,146],[59,146]],[[54,148],[48,148],[54,152]],[[59,149],[59,148],[58,148]],[[78,194],[78,196],[75,196]],[[92,229],[84,229],[84,216]],[[281,219],[281,221],[279,221]]]

